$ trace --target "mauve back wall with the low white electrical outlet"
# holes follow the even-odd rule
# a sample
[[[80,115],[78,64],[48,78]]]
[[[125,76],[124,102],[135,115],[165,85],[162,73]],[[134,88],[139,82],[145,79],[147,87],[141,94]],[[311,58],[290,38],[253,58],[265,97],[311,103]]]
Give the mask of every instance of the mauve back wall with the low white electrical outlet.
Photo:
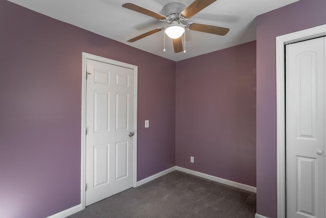
[[[256,41],[177,62],[176,165],[256,186],[255,107]]]

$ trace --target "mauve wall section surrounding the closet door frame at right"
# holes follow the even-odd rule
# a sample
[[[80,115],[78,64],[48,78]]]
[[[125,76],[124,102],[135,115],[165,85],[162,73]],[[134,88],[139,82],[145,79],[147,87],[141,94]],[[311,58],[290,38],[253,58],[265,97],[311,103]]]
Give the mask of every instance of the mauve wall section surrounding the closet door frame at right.
[[[275,37],[326,23],[325,0],[301,0],[257,17],[257,213],[277,217]]]

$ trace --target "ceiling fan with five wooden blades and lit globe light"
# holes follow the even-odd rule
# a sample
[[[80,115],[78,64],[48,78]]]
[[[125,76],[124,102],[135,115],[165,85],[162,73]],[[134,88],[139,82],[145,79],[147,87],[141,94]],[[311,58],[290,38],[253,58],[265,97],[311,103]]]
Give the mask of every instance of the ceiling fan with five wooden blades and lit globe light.
[[[200,31],[204,33],[210,33],[215,35],[224,36],[229,32],[229,28],[217,27],[212,25],[205,25],[202,23],[188,22],[183,24],[182,22],[191,18],[216,0],[195,0],[191,5],[185,7],[185,5],[181,3],[169,3],[162,8],[162,14],[156,13],[154,11],[148,10],[141,6],[126,3],[123,4],[122,7],[151,16],[160,21],[164,21],[169,23],[167,27],[160,27],[154,30],[148,31],[142,35],[136,36],[132,39],[129,39],[127,42],[134,42],[139,39],[142,39],[146,36],[157,33],[161,30],[165,30],[165,34],[167,34],[173,41],[174,52],[182,52],[182,38],[181,36],[185,32],[185,30],[194,30]]]

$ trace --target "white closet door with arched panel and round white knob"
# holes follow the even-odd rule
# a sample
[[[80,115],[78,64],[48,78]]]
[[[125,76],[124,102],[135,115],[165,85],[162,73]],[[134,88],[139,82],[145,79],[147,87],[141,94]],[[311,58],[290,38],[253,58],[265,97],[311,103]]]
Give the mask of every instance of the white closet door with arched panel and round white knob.
[[[325,217],[325,39],[286,45],[286,214]]]

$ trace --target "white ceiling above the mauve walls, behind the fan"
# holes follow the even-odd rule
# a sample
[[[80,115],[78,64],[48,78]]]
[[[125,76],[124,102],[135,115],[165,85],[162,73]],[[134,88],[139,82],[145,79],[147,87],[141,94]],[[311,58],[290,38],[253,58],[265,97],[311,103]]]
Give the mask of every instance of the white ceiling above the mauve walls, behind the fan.
[[[189,19],[189,22],[230,28],[225,36],[186,31],[186,53],[174,53],[172,40],[164,31],[136,42],[128,39],[152,29],[166,27],[168,23],[121,7],[130,2],[161,13],[172,2],[185,6],[194,0],[9,0],[23,7],[45,14],[74,26],[117,40],[149,53],[179,61],[209,52],[225,49],[256,39],[255,17],[259,14],[297,2],[298,0],[218,0]],[[183,23],[187,23],[184,21]]]

